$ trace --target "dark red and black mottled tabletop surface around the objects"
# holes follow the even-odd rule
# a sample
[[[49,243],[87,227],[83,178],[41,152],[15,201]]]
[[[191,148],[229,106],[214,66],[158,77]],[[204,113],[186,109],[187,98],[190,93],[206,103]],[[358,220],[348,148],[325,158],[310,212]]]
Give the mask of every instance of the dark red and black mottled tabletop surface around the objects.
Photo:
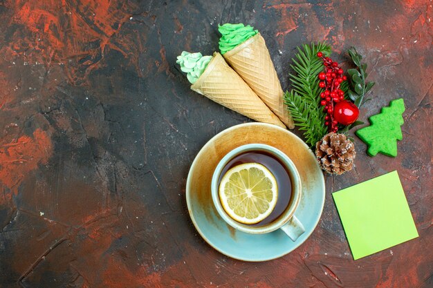
[[[428,0],[0,1],[0,286],[433,287],[432,18]],[[226,22],[259,29],[284,89],[295,47],[326,40],[369,64],[361,120],[405,99],[398,156],[356,138],[311,237],[268,262],[223,256],[187,213],[196,153],[252,121],[175,64],[217,50]],[[331,193],[394,170],[420,237],[354,261]]]

